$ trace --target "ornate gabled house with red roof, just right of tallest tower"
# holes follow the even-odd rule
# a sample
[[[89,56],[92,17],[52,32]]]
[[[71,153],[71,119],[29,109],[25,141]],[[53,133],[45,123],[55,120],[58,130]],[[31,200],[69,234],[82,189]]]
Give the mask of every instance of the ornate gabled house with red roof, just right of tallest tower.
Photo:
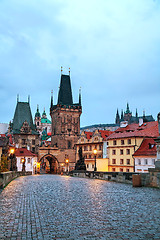
[[[85,159],[87,171],[94,171],[96,149],[96,167],[97,171],[108,171],[107,158],[107,137],[112,134],[108,130],[95,130],[94,132],[83,131],[76,144],[76,161],[79,160],[79,148],[82,147],[83,157]]]

